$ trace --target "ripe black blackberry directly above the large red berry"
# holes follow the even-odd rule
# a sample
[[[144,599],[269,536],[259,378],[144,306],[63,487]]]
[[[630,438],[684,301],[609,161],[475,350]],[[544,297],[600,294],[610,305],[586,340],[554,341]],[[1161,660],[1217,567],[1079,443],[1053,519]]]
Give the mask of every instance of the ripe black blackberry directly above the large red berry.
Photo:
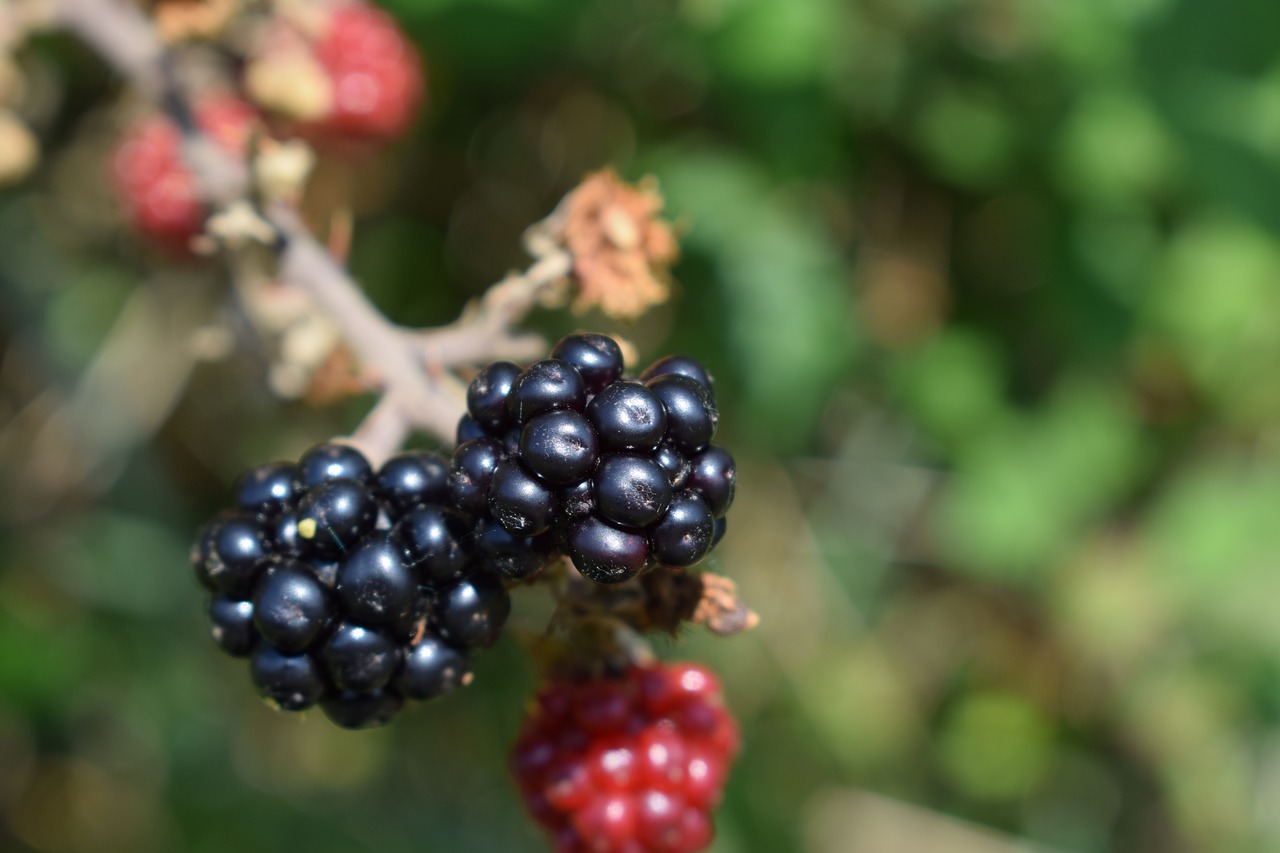
[[[476,374],[449,488],[508,578],[556,549],[603,584],[655,564],[691,566],[724,534],[733,501],[733,457],[710,443],[718,423],[710,378],[692,359],[626,378],[617,342],[572,334],[544,361]]]

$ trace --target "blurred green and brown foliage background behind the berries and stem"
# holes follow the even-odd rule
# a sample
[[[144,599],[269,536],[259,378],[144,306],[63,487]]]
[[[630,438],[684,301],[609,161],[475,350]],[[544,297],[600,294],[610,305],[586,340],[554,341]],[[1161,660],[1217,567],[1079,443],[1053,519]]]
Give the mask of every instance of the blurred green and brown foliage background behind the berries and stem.
[[[605,164],[685,228],[669,305],[531,325],[716,375],[712,567],[763,621],[660,648],[744,726],[717,853],[1280,849],[1280,5],[385,5],[428,108],[317,192],[357,190],[393,319],[456,316]],[[512,637],[369,733],[270,712],[209,642],[196,525],[367,401],[283,405],[250,345],[193,362],[236,309],[120,228],[120,86],[60,37],[24,61],[51,106],[0,195],[0,849],[541,849]]]

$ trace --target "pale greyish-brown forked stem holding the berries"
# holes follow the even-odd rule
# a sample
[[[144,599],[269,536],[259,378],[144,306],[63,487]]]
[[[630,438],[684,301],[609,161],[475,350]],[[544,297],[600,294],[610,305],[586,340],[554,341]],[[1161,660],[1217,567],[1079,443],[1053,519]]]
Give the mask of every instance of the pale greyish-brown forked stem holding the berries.
[[[168,73],[164,45],[137,6],[123,0],[51,3],[55,19],[134,86],[170,111],[191,114],[187,92]],[[223,152],[198,128],[189,127],[191,122],[184,124],[188,138],[183,156],[204,195],[219,204],[243,197],[248,190],[247,164]],[[465,386],[453,369],[492,359],[525,360],[541,352],[545,343],[539,336],[513,333],[512,325],[572,266],[568,252],[547,234],[557,211],[526,236],[526,246],[535,256],[529,270],[489,288],[456,323],[406,329],[383,316],[292,206],[273,202],[260,214],[279,237],[282,282],[307,292],[338,325],[361,364],[379,379],[383,397],[352,435],[376,459],[393,453],[412,429],[452,442],[465,411]]]

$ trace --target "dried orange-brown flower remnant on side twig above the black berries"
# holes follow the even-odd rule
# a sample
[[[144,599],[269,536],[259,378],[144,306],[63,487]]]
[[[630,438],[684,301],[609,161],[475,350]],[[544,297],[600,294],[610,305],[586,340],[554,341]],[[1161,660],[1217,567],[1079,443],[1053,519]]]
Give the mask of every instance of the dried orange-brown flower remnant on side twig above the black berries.
[[[652,178],[623,183],[612,169],[588,175],[564,199],[563,243],[573,256],[575,310],[598,307],[634,319],[671,293],[668,268],[680,255]]]

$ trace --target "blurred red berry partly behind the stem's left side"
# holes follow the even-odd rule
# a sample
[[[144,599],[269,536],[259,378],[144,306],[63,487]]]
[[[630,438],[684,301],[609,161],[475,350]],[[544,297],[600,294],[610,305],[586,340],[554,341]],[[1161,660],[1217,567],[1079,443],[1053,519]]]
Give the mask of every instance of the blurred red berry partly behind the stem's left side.
[[[211,97],[196,108],[196,123],[230,154],[244,151],[255,113],[243,101]],[[111,155],[111,177],[125,216],[147,237],[186,250],[205,225],[205,202],[182,161],[182,134],[164,115],[137,122]]]

